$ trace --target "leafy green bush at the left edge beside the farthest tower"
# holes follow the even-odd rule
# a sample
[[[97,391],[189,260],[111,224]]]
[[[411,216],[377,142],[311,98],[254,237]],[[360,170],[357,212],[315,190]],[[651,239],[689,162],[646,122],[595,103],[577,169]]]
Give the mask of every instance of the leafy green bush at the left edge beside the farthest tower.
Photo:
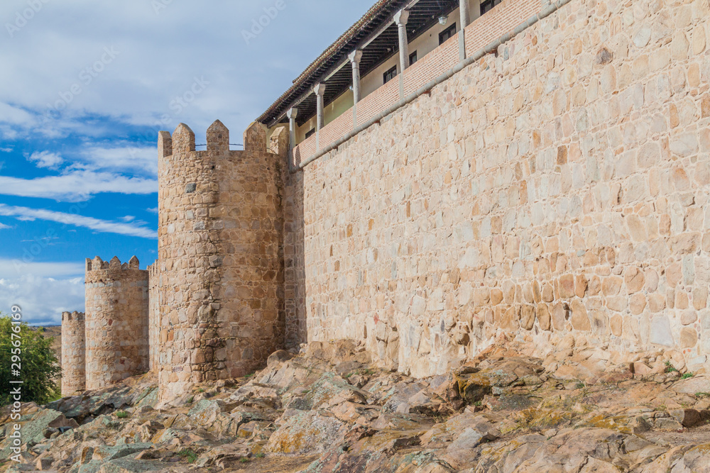
[[[62,369],[52,351],[50,338],[42,335],[42,330],[35,330],[26,323],[12,325],[12,318],[0,314],[0,406],[10,404],[13,399],[10,381],[21,380],[22,402],[34,401],[46,404],[60,394],[56,379]],[[18,329],[19,328],[19,329]],[[19,330],[19,333],[16,331]],[[13,333],[16,336],[13,338]],[[20,352],[15,345],[20,340]],[[14,358],[13,358],[14,357]],[[13,376],[13,363],[19,361],[20,376]]]

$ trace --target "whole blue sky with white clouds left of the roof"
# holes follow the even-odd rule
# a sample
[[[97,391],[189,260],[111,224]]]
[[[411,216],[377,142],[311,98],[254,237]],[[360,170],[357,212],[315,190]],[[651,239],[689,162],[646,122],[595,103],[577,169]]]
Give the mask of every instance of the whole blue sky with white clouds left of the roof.
[[[240,143],[372,1],[0,2],[0,312],[58,323],[84,258],[151,264],[157,131]]]

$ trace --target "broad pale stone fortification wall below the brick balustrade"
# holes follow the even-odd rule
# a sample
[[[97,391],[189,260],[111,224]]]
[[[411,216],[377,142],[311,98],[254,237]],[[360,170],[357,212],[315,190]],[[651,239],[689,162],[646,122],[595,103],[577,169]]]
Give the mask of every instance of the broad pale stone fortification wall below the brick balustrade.
[[[289,318],[416,376],[501,330],[707,367],[708,18],[573,0],[293,174]]]

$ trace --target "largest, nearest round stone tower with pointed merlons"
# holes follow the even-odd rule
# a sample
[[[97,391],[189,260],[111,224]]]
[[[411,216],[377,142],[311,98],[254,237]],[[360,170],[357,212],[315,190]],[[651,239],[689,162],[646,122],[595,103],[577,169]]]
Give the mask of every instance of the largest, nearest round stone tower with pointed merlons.
[[[283,347],[281,160],[259,123],[244,151],[216,121],[158,138],[160,399],[243,376]]]

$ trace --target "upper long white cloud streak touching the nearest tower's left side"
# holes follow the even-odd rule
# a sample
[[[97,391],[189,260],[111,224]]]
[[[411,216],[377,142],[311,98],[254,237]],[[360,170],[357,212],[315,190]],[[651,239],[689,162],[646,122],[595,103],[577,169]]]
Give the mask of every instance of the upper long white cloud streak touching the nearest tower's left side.
[[[95,194],[153,194],[158,181],[141,177],[126,177],[110,172],[73,170],[59,176],[20,179],[0,176],[0,194],[20,197],[43,197],[56,201],[85,201]]]

